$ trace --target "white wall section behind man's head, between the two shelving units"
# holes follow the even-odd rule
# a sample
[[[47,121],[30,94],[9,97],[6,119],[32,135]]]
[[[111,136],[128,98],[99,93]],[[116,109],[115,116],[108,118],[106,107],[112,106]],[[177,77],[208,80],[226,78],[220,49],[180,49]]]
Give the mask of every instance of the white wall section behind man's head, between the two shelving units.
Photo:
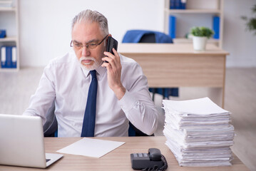
[[[71,20],[84,9],[105,15],[119,42],[128,29],[163,30],[159,0],[21,0],[19,5],[21,66],[45,66],[69,51]]]

